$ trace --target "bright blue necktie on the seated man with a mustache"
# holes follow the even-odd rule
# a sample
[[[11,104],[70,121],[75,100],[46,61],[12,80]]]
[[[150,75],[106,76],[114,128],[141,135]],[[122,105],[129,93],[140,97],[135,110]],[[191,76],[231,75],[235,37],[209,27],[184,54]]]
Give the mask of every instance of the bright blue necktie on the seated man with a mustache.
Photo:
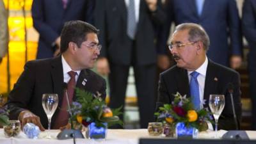
[[[200,95],[199,95],[199,85],[196,77],[199,75],[198,72],[192,72],[191,74],[191,79],[190,79],[190,95],[192,102],[195,106],[195,109],[199,110],[200,109]]]

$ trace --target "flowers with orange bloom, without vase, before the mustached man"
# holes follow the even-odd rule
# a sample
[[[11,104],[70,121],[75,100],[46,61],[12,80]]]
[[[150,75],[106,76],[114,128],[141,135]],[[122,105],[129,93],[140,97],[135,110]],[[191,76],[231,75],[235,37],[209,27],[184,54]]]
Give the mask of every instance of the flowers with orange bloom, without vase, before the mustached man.
[[[172,104],[164,104],[155,115],[158,122],[173,127],[179,122],[184,122],[186,127],[195,127],[199,131],[208,129],[207,120],[212,122],[212,115],[208,109],[196,110],[191,100],[186,98],[186,95],[180,95],[179,92],[174,95]]]

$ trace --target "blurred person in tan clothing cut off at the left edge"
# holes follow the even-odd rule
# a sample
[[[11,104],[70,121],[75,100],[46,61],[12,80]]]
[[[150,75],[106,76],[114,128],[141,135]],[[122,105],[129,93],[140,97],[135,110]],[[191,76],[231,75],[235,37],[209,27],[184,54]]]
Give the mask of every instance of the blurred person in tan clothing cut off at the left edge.
[[[0,63],[8,49],[8,12],[4,7],[3,0],[0,0]]]

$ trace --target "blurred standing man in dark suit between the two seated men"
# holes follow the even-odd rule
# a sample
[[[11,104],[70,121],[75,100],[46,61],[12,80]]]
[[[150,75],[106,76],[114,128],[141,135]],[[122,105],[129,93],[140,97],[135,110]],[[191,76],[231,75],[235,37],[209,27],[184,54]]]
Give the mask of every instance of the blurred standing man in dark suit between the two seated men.
[[[140,126],[154,121],[156,81],[156,28],[164,23],[165,13],[157,0],[101,1],[95,17],[100,29],[102,52],[97,61],[100,74],[109,74],[111,108],[125,106],[129,68],[134,78],[140,111]],[[122,118],[122,116],[121,116]],[[122,118],[123,119],[123,118]]]

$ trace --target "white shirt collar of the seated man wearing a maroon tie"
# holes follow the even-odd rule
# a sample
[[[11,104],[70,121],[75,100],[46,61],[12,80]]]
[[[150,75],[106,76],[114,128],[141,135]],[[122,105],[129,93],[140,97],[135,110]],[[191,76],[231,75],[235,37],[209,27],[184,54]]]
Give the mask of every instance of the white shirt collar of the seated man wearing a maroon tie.
[[[68,83],[68,81],[70,79],[70,76],[69,76],[68,72],[70,72],[72,69],[68,65],[67,61],[65,60],[65,58],[62,55],[61,55],[61,62],[62,62],[62,67],[63,67],[63,78],[64,78],[63,81],[65,83]],[[77,82],[77,79],[78,79],[78,76],[79,76],[81,70],[77,70],[77,71],[74,71],[74,72],[76,72],[76,82]]]

